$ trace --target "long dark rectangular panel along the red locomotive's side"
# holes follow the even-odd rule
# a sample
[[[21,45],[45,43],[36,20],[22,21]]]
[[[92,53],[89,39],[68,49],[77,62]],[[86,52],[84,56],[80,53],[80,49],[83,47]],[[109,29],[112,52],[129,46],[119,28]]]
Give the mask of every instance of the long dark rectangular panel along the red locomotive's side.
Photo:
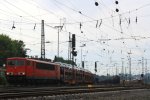
[[[43,70],[55,70],[55,65],[52,64],[44,64],[44,63],[36,63],[37,69],[43,69]]]

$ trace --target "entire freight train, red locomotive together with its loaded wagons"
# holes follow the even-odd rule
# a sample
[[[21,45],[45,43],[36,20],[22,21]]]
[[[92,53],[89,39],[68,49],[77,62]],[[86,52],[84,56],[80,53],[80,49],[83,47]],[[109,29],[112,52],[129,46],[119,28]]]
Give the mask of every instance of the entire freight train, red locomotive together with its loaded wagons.
[[[93,84],[92,72],[61,62],[32,58],[7,58],[6,79],[10,84]]]

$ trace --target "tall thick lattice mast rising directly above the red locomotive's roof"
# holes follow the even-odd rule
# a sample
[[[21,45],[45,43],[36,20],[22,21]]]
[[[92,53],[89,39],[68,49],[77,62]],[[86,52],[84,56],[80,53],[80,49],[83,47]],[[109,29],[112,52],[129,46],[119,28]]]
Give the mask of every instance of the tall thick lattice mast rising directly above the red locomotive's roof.
[[[45,59],[44,20],[41,21],[41,59]]]

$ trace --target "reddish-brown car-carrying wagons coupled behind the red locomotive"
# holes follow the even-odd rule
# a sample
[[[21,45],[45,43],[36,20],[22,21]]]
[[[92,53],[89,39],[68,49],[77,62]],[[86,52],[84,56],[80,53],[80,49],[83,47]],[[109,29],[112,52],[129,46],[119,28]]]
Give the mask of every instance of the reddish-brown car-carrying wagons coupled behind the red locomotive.
[[[92,84],[93,74],[83,68],[72,66],[61,62],[56,62],[60,65],[60,80],[63,84]]]

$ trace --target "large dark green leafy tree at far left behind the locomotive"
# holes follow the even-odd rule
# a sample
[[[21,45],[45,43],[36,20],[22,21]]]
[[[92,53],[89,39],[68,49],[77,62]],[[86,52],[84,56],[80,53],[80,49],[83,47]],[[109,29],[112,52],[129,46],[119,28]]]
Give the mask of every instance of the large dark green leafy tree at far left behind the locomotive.
[[[10,37],[0,35],[0,66],[8,57],[26,57],[25,44],[21,40],[12,40]]]

